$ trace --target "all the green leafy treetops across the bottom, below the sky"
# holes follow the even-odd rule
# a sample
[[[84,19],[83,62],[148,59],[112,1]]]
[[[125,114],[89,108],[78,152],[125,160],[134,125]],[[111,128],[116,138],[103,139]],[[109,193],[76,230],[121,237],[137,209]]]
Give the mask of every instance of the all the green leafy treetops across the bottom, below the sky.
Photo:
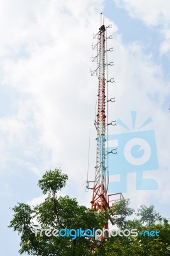
[[[170,225],[151,205],[141,205],[135,213],[129,207],[129,199],[121,200],[109,211],[96,212],[85,206],[78,205],[75,198],[57,196],[57,192],[66,186],[67,175],[60,169],[46,171],[38,185],[46,194],[45,202],[30,207],[20,204],[13,207],[13,219],[10,228],[20,235],[20,254],[37,256],[170,256]],[[107,240],[89,239],[88,237],[46,236],[40,232],[35,220],[42,229],[68,228],[87,230],[100,229],[108,219],[112,218],[116,228],[120,230],[137,229],[138,233],[145,230],[159,231],[157,236],[111,236]],[[92,253],[92,249],[95,252]]]

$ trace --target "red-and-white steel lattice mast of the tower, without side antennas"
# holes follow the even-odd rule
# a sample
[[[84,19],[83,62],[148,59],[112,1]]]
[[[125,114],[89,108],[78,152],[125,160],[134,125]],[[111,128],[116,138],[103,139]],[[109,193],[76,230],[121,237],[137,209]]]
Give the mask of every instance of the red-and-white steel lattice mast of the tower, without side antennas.
[[[96,173],[95,182],[92,195],[92,209],[96,208],[98,211],[108,209],[106,192],[106,155],[105,155],[105,141],[106,141],[106,28],[101,26],[99,28],[99,42],[98,46],[98,95],[97,95],[97,150],[96,150]]]

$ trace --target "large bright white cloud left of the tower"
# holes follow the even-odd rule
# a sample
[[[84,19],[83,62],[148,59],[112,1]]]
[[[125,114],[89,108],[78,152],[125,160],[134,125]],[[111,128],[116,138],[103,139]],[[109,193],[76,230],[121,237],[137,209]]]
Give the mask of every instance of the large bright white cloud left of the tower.
[[[60,165],[76,179],[87,163],[97,86],[90,44],[102,3],[10,2],[2,3],[1,72],[2,86],[15,91],[17,113],[1,118],[3,160],[38,175]]]

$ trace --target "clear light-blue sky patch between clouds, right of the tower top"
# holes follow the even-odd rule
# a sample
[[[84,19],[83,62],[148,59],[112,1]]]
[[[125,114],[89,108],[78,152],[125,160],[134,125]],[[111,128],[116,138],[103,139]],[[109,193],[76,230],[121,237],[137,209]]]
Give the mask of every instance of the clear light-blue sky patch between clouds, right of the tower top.
[[[168,71],[168,57],[162,56],[160,58],[159,54],[159,45],[163,40],[159,33],[160,25],[146,26],[143,20],[134,19],[128,12],[125,12],[124,8],[117,8],[117,4],[112,0],[106,1],[104,13],[111,20],[114,17],[115,23],[118,26],[118,33],[122,35],[122,42],[124,44],[139,41],[145,48],[145,54],[152,54],[153,61],[161,65],[165,72]]]

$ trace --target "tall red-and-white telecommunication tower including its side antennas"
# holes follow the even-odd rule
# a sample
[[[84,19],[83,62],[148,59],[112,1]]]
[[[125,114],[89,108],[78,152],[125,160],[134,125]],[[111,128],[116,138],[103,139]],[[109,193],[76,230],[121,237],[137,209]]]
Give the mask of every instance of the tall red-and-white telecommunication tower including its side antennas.
[[[102,24],[103,23],[103,24]],[[107,30],[111,28],[111,25],[104,26],[104,17],[101,13],[101,26],[99,31],[93,35],[94,40],[97,40],[92,45],[92,49],[97,51],[96,56],[92,56],[92,62],[97,63],[95,70],[91,70],[91,76],[98,77],[98,94],[97,94],[97,115],[94,125],[97,131],[97,150],[96,150],[96,167],[95,167],[95,179],[93,181],[87,180],[87,189],[92,189],[92,209],[96,208],[97,211],[106,211],[113,208],[115,200],[113,196],[118,196],[118,200],[122,199],[122,193],[107,195],[109,184],[109,170],[108,170],[108,157],[109,153],[106,151],[108,147],[108,125],[116,125],[116,120],[108,123],[108,102],[115,102],[115,97],[108,100],[108,83],[114,83],[114,79],[108,79],[108,66],[113,66],[113,61],[108,63],[108,52],[113,51],[113,48],[107,49],[107,40],[112,39],[112,36],[108,36]],[[107,141],[107,143],[106,143]],[[107,158],[108,159],[108,158]],[[106,166],[107,162],[107,166]],[[106,180],[107,177],[107,180]],[[90,182],[94,183],[94,186],[90,188]],[[112,198],[112,200],[111,200]],[[111,218],[110,218],[111,220]],[[106,226],[108,228],[108,225]]]

